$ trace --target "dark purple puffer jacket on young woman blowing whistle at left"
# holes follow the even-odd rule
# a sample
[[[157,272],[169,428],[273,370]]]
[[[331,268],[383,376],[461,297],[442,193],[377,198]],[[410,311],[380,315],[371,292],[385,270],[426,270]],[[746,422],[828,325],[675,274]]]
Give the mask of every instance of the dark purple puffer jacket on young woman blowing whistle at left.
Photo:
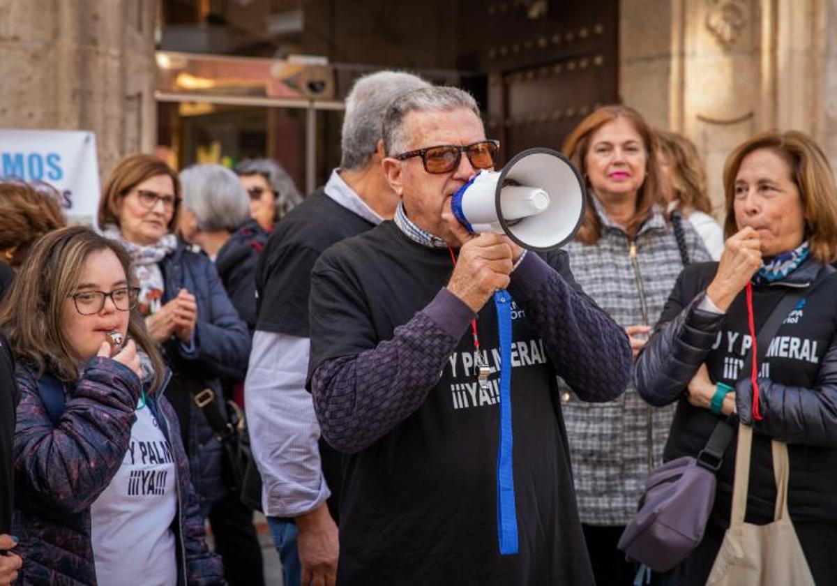
[[[20,538],[15,553],[23,558],[18,583],[95,584],[90,505],[128,450],[140,379],[110,358],[91,358],[54,426],[35,373],[18,363],[17,378],[21,398],[14,438],[13,531]],[[223,584],[220,558],[204,541],[177,415],[162,393],[146,404],[167,435],[177,465],[179,502],[172,524],[179,544],[177,583]]]

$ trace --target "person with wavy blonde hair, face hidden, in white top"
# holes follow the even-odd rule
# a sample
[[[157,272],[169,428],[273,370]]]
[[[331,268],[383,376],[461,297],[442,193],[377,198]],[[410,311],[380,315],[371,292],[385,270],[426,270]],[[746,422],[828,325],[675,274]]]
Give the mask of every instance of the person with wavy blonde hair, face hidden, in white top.
[[[713,260],[721,258],[724,233],[712,213],[712,203],[706,193],[706,169],[696,146],[686,136],[676,132],[657,131],[660,141],[658,161],[660,183],[670,214],[680,213],[689,220],[706,244]],[[676,222],[672,216],[672,223]]]

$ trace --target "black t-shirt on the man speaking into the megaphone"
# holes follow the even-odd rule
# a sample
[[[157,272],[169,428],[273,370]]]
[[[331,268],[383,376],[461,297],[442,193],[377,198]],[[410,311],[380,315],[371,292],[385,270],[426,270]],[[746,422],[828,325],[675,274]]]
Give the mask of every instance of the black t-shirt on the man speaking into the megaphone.
[[[309,375],[325,360],[392,339],[452,270],[447,249],[417,244],[392,222],[327,250],[311,279]],[[499,553],[500,355],[491,301],[478,329],[492,369],[489,392],[476,382],[469,329],[424,404],[367,449],[344,455],[338,583],[592,583],[556,373],[516,304],[511,405],[520,552]]]

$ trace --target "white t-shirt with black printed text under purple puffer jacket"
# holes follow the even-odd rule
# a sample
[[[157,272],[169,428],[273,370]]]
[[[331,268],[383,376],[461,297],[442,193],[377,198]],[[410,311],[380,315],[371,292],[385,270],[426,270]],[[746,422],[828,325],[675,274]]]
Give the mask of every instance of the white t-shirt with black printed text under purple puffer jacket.
[[[147,407],[136,409],[131,444],[90,507],[96,581],[177,584],[177,471],[172,448]]]

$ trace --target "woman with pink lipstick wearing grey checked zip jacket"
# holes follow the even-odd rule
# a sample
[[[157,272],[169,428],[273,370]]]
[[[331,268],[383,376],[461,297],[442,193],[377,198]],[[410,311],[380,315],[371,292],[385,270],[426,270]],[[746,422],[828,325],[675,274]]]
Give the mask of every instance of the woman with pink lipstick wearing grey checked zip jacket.
[[[688,222],[681,242],[665,218],[654,132],[624,105],[593,111],[564,154],[587,180],[587,209],[567,244],[570,267],[593,301],[625,328],[634,357],[683,266],[709,260]],[[636,511],[648,471],[662,461],[673,409],[652,409],[633,383],[614,401],[584,403],[561,381],[578,512],[599,584],[629,584],[634,568],[616,544]]]

